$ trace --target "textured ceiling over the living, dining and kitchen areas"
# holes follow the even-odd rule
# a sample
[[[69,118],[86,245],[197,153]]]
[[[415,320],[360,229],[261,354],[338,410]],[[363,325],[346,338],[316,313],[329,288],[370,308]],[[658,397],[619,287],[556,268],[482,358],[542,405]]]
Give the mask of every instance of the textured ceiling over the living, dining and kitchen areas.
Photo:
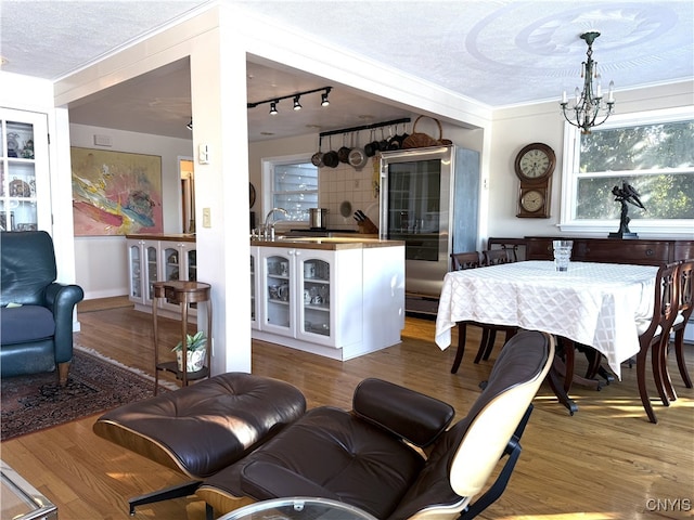
[[[0,54],[9,60],[2,70],[56,79],[208,3],[2,0]],[[240,9],[493,107],[556,100],[563,90],[571,92],[580,82],[580,62],[587,50],[578,37],[587,30],[602,32],[593,46],[593,57],[604,81],[614,79],[617,102],[619,90],[694,78],[692,0],[235,3]],[[182,136],[180,119],[190,116],[190,83],[179,81],[181,89],[176,91],[169,75],[184,76],[185,65],[168,67],[149,79],[140,78],[129,86],[130,91],[128,86],[115,88],[110,95],[97,96],[97,102],[104,105],[107,101],[117,107],[115,113],[129,120],[127,125],[142,120],[139,130],[124,129],[169,135],[174,130],[156,128],[176,123]],[[258,64],[249,64],[249,101],[330,84],[298,70]],[[278,84],[295,90],[278,92]],[[123,101],[124,92],[130,95],[137,118],[126,117],[124,110],[129,108]],[[301,110],[300,116],[273,118],[271,123],[267,107],[252,109],[250,139],[307,133],[307,125],[342,128],[359,125],[363,116],[381,120],[403,113],[387,100],[374,102],[349,89],[334,92],[331,101],[330,115],[327,110]],[[83,117],[94,114],[91,121],[79,112],[79,117],[73,117],[72,109],[70,119],[100,126],[95,114],[108,118],[110,110],[94,108],[86,103],[75,108]],[[146,112],[151,113],[149,122],[144,121]],[[114,110],[111,113],[115,117]],[[120,128],[111,121],[103,121],[103,126]]]

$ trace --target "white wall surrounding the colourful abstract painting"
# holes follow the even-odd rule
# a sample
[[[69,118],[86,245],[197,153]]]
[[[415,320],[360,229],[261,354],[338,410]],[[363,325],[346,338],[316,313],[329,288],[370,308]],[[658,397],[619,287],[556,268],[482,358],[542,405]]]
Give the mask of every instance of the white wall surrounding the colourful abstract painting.
[[[108,135],[113,145],[95,146],[94,134]],[[181,197],[178,156],[191,156],[192,140],[163,138],[121,130],[69,126],[72,146],[111,150],[162,157],[162,199],[164,232],[181,233]],[[75,265],[77,284],[85,289],[85,299],[106,298],[128,294],[128,251],[125,236],[76,236]]]

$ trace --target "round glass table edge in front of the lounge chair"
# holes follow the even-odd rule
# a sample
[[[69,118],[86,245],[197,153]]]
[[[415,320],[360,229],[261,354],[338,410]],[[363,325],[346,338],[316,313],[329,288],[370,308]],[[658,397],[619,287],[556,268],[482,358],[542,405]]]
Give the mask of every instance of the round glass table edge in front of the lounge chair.
[[[367,511],[329,498],[294,496],[258,502],[228,512],[219,520],[376,520]]]

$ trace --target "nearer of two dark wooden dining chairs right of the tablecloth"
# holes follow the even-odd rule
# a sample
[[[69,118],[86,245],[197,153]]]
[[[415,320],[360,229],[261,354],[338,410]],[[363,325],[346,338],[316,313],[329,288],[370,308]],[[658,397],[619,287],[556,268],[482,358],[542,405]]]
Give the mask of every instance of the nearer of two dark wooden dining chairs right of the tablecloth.
[[[643,408],[648,416],[648,420],[657,424],[648,391],[646,389],[646,359],[651,350],[651,361],[653,365],[653,377],[655,386],[664,405],[670,404],[664,381],[663,349],[667,349],[670,339],[670,330],[674,318],[678,315],[678,268],[679,262],[660,265],[655,280],[655,300],[653,306],[653,316],[637,323],[639,330],[639,353],[637,354],[637,382]]]

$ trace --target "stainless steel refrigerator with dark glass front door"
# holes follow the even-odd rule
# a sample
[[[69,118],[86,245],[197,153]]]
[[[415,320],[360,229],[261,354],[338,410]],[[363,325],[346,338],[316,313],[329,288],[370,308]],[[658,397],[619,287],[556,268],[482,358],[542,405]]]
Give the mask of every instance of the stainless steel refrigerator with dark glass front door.
[[[404,240],[406,292],[438,298],[450,255],[475,250],[479,153],[434,146],[381,156],[381,238]]]

